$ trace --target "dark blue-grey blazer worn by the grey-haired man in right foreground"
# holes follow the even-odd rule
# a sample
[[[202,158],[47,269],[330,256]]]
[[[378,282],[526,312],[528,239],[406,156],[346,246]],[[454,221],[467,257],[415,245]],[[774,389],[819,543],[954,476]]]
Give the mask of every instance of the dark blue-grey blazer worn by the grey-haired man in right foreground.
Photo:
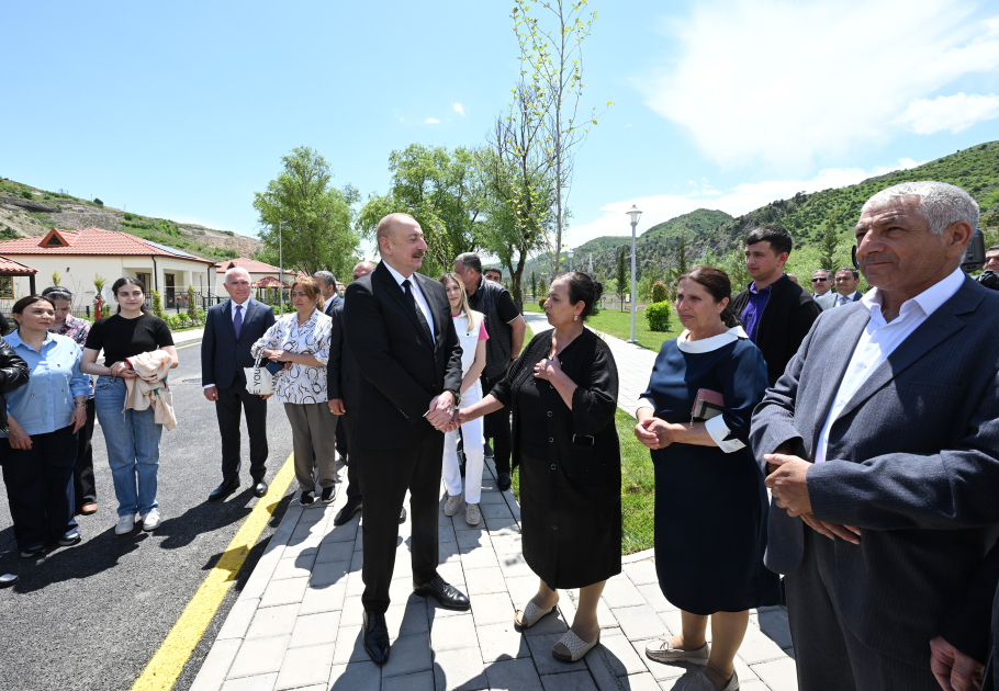
[[[869,319],[857,303],[823,311],[766,392],[750,432],[764,472],[763,454],[785,442],[815,458]],[[965,277],[871,373],[830,428],[828,462],[808,468],[815,517],[862,533],[860,545],[835,541],[830,577],[843,624],[864,644],[919,667],[929,666],[927,643],[938,635],[984,661],[988,625],[980,614],[997,577],[986,554],[999,531],[997,332],[999,293]],[[768,521],[764,563],[793,573],[811,529],[776,505]]]

